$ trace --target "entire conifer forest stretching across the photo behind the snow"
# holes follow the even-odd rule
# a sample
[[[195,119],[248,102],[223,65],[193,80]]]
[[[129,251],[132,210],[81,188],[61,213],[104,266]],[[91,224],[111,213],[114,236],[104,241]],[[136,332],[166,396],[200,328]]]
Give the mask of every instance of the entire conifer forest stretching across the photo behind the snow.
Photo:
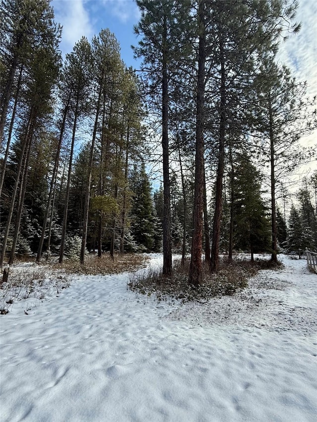
[[[0,267],[162,251],[198,285],[222,254],[316,250],[316,99],[277,59],[297,1],[136,3],[135,70],[109,29],[62,57],[50,0],[1,1]]]

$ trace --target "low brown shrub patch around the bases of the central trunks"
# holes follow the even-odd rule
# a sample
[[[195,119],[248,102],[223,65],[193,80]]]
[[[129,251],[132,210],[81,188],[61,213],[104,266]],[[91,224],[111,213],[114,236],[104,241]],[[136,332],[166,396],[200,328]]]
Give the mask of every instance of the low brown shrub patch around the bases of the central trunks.
[[[233,264],[222,261],[217,274],[210,274],[208,266],[204,268],[203,284],[194,287],[188,285],[189,261],[184,267],[180,261],[175,261],[172,277],[163,277],[161,271],[148,270],[141,275],[130,275],[128,288],[141,294],[155,294],[158,300],[172,297],[183,302],[195,300],[207,303],[214,296],[233,295],[247,287],[248,278],[268,265],[262,261],[234,261]]]

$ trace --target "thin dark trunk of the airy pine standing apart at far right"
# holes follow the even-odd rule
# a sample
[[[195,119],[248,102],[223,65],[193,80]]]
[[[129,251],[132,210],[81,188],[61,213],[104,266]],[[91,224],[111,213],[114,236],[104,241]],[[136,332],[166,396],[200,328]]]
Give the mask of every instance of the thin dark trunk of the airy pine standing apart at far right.
[[[274,166],[274,136],[271,99],[268,95],[269,141],[270,141],[270,166],[271,166],[271,223],[272,223],[272,254],[271,261],[277,262],[277,230],[275,206],[275,166]]]

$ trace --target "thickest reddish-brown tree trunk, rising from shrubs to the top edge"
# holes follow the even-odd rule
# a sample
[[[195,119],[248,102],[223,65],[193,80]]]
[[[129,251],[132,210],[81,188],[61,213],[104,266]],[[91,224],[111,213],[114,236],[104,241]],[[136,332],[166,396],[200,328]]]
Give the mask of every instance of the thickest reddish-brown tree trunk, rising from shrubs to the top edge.
[[[194,190],[194,227],[192,253],[188,283],[198,286],[203,281],[202,242],[204,208],[204,119],[205,119],[205,62],[206,29],[205,1],[199,1],[198,11],[199,52],[196,99],[196,153],[195,153],[195,190]]]

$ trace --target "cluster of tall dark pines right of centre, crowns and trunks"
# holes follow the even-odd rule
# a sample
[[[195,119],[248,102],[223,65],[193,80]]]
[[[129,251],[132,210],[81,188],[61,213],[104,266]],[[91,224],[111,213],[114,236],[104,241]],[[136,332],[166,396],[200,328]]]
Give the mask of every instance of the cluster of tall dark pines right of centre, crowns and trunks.
[[[305,96],[306,85],[276,59],[285,34],[300,29],[294,21],[297,2],[137,0],[137,4],[141,19],[135,33],[141,40],[134,50],[143,57],[144,86],[156,110],[153,119],[159,116],[161,124],[163,275],[172,271],[169,160],[175,153],[182,181],[182,159],[188,153],[195,155],[189,283],[202,282],[203,236],[205,260],[211,272],[218,271],[226,172],[229,262],[235,226],[242,220],[252,255],[258,240],[264,240],[260,178],[256,171],[250,172],[255,162],[269,170],[268,233],[271,260],[276,262],[277,185],[313,152],[299,150],[298,141],[316,127],[315,99]],[[247,168],[247,180],[253,179],[248,193],[243,191],[245,185],[237,184]],[[210,173],[214,180],[211,230],[206,204]],[[183,189],[184,203],[186,194]]]

